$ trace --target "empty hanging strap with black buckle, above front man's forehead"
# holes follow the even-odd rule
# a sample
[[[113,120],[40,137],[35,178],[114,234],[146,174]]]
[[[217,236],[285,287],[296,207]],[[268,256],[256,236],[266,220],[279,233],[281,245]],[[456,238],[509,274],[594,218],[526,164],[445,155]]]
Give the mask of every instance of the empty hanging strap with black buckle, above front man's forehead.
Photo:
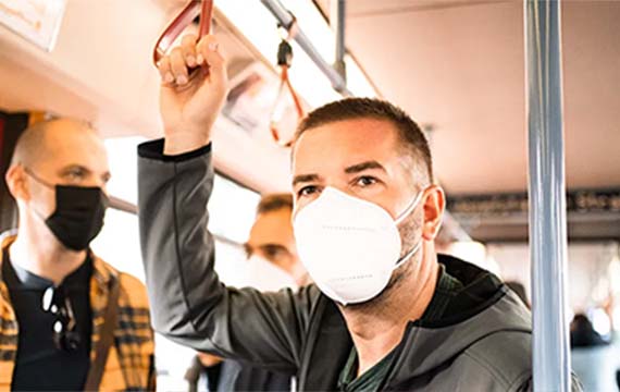
[[[303,118],[301,99],[293,88],[288,78],[288,71],[293,63],[293,47],[289,44],[295,34],[296,23],[293,23],[277,47],[277,66],[280,68],[280,88],[273,105],[269,122],[271,136],[282,147],[290,147],[295,130]]]

